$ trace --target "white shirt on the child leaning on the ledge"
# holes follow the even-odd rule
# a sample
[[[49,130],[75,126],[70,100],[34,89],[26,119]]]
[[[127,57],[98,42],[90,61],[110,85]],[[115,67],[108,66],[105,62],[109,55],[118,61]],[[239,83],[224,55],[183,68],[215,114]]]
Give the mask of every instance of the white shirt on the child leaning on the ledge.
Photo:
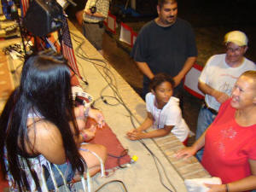
[[[172,134],[174,134],[181,142],[189,135],[189,126],[182,117],[179,108],[179,99],[172,96],[164,108],[159,109],[154,105],[155,96],[149,92],[146,95],[147,111],[154,117],[154,129],[162,129],[165,125],[174,125]]]

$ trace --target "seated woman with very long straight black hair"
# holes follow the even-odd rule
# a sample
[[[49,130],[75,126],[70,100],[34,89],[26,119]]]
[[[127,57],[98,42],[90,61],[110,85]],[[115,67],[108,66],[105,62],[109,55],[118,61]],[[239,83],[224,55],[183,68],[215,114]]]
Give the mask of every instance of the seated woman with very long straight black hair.
[[[104,123],[96,109],[73,107],[70,70],[61,55],[30,56],[0,118],[1,171],[11,190],[55,189],[63,184],[61,173],[70,182],[86,169],[90,176],[99,172],[100,161],[89,151],[104,161],[106,148],[82,144],[93,136],[77,123],[83,111]]]

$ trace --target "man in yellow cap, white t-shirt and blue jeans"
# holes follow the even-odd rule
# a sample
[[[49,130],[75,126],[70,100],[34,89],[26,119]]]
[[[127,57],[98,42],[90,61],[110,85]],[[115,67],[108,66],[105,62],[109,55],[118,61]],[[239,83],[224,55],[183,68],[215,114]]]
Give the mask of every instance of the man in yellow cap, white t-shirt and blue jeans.
[[[198,87],[206,96],[197,119],[196,139],[201,137],[201,134],[212,124],[219,106],[230,97],[233,86],[241,73],[248,70],[256,71],[253,61],[244,57],[247,43],[247,36],[244,32],[228,32],[224,37],[226,53],[213,55],[201,72]],[[199,160],[202,154],[203,149],[196,154]]]

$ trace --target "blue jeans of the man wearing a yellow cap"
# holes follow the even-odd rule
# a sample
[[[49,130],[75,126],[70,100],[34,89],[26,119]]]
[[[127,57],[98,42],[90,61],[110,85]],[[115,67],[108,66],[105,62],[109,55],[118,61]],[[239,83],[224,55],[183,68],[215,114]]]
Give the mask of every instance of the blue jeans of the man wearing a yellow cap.
[[[207,130],[208,126],[212,124],[213,120],[215,119],[216,114],[213,114],[207,108],[201,107],[200,112],[198,114],[197,119],[197,127],[196,127],[196,135],[195,139],[197,140],[201,135]],[[204,148],[201,148],[196,153],[196,158],[201,161],[202,155],[204,152]]]

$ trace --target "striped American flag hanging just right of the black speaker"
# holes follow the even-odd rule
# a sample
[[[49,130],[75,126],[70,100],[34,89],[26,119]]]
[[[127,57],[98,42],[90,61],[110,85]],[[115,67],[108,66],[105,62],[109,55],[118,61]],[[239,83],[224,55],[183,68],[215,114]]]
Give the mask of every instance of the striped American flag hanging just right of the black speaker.
[[[77,61],[73,53],[73,45],[70,38],[70,33],[67,25],[67,18],[64,17],[62,26],[62,53],[67,58],[73,71],[80,76]]]

